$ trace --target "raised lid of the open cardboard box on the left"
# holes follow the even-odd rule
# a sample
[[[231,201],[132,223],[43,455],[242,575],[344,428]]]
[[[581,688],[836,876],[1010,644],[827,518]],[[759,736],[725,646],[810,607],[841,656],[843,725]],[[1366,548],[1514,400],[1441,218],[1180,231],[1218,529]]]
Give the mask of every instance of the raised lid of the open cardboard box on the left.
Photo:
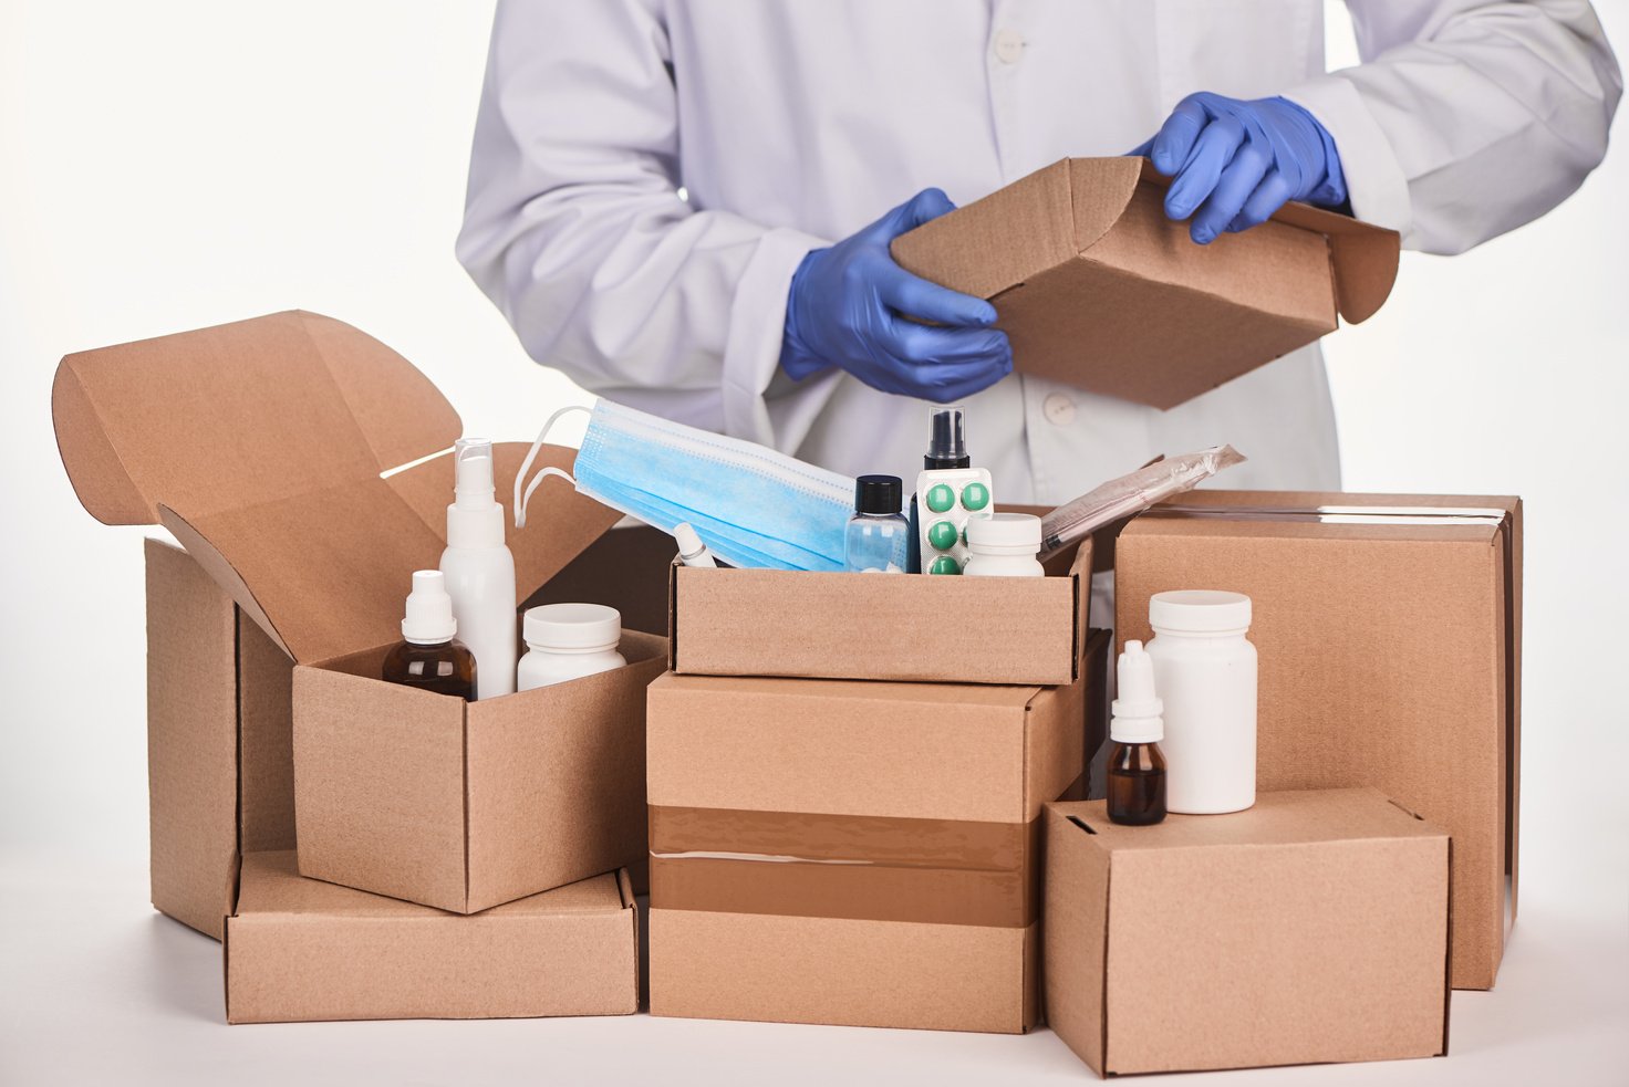
[[[80,501],[104,524],[163,524],[292,657],[399,636],[407,574],[445,547],[461,423],[406,358],[288,311],[68,355],[50,394]],[[498,500],[525,444],[497,452]],[[575,451],[544,446],[539,467]],[[381,474],[388,477],[381,478]],[[516,605],[617,521],[565,487],[508,534]]]

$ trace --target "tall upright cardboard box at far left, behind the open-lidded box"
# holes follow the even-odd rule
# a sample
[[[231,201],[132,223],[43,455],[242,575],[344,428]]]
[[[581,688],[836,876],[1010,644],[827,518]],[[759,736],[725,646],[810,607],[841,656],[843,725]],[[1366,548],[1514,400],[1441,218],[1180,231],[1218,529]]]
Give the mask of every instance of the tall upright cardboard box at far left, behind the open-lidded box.
[[[293,661],[192,558],[147,540],[153,906],[215,939],[241,853],[295,846]]]

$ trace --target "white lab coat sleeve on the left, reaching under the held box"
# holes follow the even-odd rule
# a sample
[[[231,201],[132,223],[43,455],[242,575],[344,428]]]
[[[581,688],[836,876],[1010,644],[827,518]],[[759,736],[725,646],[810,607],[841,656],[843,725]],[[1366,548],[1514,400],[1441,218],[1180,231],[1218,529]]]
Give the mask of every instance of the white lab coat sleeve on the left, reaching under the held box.
[[[536,361],[775,444],[787,288],[828,242],[679,199],[670,65],[648,2],[498,3],[458,259]]]

